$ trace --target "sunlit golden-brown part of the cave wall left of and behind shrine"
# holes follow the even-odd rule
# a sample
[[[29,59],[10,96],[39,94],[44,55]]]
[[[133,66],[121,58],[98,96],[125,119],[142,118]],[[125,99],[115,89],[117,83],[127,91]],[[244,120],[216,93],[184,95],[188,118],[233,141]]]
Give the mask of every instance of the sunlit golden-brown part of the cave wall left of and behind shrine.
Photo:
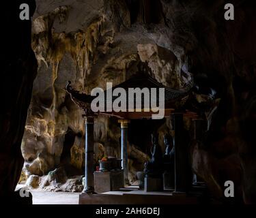
[[[149,63],[153,76],[169,87],[182,89],[191,79],[174,53],[156,44],[159,33],[152,39],[143,23],[138,25],[130,26],[125,1],[37,1],[32,48],[39,68],[22,144],[27,176],[54,170],[64,151],[70,153],[74,173],[83,173],[83,111],[64,90],[68,80],[89,93],[94,87],[104,89],[106,82],[115,85],[130,78],[142,62]],[[95,136],[96,161],[103,155],[120,156],[117,120],[99,116]],[[144,161],[139,161],[141,170]],[[135,180],[134,174],[130,179]]]

